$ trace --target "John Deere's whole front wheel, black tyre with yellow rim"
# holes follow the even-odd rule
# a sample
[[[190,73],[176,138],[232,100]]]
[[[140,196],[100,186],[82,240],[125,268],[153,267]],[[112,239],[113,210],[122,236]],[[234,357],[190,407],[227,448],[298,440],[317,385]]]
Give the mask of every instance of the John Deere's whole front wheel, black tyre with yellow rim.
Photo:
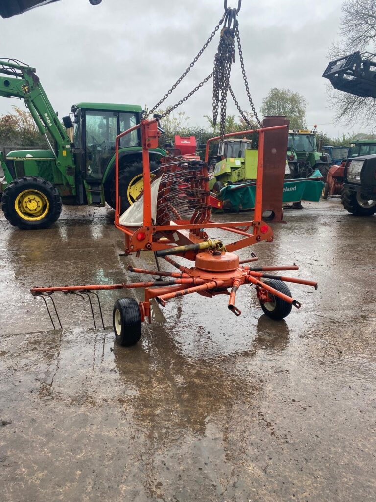
[[[4,216],[23,230],[48,228],[62,209],[57,189],[42,178],[23,176],[12,181],[3,195]]]

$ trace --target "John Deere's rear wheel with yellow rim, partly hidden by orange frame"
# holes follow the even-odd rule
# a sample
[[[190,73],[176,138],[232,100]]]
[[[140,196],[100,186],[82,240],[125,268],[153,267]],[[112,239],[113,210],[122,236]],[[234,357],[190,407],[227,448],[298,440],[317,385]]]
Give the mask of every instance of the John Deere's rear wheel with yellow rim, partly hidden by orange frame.
[[[155,174],[152,172],[158,169],[159,164],[150,162],[150,178],[153,180]],[[119,173],[119,193],[120,193],[120,214],[133,205],[137,197],[143,192],[143,166],[142,162],[134,162],[124,168]],[[115,209],[115,179],[112,182],[110,193],[110,204]]]

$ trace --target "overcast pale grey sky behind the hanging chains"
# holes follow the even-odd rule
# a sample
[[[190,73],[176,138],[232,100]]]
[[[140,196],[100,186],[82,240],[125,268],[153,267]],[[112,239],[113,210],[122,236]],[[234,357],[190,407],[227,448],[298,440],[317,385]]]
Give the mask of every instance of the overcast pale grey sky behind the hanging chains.
[[[231,7],[237,3],[228,2]],[[347,131],[331,123],[334,113],[321,78],[341,4],[342,0],[243,0],[240,34],[258,111],[272,87],[289,88],[306,98],[309,127],[317,123],[330,136],[358,132],[356,127]],[[35,67],[60,116],[80,101],[151,107],[196,56],[222,14],[223,0],[103,0],[97,7],[89,0],[62,0],[0,19],[0,56]],[[166,104],[177,102],[212,71],[218,37]],[[239,58],[232,86],[248,109]],[[208,82],[180,109],[193,125],[205,125],[203,116],[211,113],[211,103]],[[12,104],[20,101],[0,98],[0,113],[12,111]],[[229,106],[229,113],[236,112]]]

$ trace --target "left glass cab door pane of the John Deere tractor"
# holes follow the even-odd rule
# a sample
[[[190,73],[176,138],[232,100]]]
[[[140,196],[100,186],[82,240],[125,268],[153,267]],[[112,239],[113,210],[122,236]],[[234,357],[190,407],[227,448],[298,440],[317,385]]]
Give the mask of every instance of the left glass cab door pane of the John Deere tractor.
[[[101,180],[115,153],[117,117],[113,111],[86,111],[86,175]]]

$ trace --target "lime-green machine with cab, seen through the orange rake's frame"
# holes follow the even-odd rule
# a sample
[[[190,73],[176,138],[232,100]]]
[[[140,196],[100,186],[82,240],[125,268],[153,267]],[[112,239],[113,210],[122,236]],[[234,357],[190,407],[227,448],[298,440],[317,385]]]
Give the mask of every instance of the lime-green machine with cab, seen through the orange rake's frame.
[[[227,183],[256,179],[258,150],[252,148],[251,140],[225,140],[219,148],[218,158],[221,160],[209,180],[209,189],[213,193],[219,194]]]

